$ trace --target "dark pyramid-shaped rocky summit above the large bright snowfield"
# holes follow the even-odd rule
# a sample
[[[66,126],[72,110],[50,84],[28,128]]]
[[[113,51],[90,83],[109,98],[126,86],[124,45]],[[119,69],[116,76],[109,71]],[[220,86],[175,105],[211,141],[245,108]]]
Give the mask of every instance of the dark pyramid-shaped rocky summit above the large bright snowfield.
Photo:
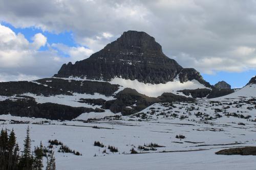
[[[54,77],[86,77],[105,81],[122,77],[158,84],[173,81],[182,69],[175,60],[163,54],[155,38],[144,32],[127,31],[90,58],[75,64],[63,64]],[[196,79],[210,86],[195,69],[184,68],[180,78],[181,82]]]

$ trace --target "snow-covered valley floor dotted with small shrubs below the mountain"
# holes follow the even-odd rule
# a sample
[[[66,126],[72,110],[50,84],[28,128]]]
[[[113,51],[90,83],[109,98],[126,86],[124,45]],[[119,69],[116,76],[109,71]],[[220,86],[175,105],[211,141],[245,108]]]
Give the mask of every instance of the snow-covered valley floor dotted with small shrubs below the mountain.
[[[20,150],[29,125],[32,145],[42,141],[47,147],[49,139],[57,139],[82,154],[59,153],[60,146],[54,145],[57,169],[256,169],[255,156],[215,154],[256,146],[254,105],[254,100],[243,99],[154,104],[131,116],[91,121],[0,115],[0,128],[14,129]],[[45,123],[37,124],[41,121]],[[94,146],[94,141],[104,147]],[[110,152],[109,145],[118,152]],[[145,145],[144,150],[139,145]],[[139,154],[130,154],[132,148]]]

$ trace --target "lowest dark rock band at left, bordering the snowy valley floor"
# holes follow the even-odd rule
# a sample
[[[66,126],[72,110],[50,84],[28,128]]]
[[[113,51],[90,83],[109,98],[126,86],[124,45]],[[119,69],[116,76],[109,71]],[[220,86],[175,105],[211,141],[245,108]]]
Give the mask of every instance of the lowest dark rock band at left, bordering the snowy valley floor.
[[[104,110],[98,108],[71,107],[54,103],[40,104],[31,99],[5,100],[0,102],[0,113],[11,114],[13,116],[72,120],[86,112],[104,112]]]

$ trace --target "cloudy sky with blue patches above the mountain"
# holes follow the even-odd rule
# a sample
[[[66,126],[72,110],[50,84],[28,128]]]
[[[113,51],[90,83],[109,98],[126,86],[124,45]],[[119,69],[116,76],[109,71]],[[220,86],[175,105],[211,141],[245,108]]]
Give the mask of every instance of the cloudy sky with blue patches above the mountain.
[[[0,0],[0,81],[51,77],[128,30],[211,84],[240,88],[256,75],[253,0]]]

